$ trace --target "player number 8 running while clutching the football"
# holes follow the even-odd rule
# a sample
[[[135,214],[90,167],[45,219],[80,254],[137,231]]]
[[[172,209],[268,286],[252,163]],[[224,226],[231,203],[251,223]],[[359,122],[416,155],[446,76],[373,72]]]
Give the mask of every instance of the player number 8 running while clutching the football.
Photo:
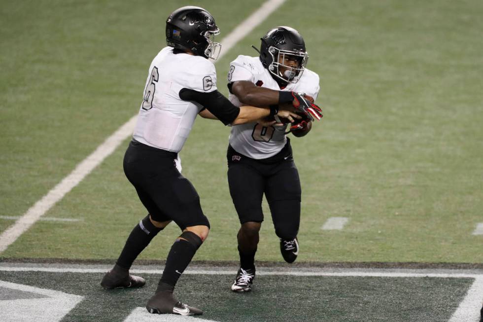
[[[255,278],[264,194],[283,259],[292,263],[297,258],[301,186],[286,131],[304,136],[311,130],[311,121],[322,117],[321,109],[311,103],[319,92],[319,76],[306,68],[309,55],[302,36],[293,28],[276,27],[261,41],[259,56],[240,55],[231,63],[230,101],[236,106],[262,107],[294,98],[294,105],[304,105],[310,113],[295,122],[276,118],[232,127],[228,183],[241,223],[237,235],[240,269],[231,287],[237,292],[250,291]]]

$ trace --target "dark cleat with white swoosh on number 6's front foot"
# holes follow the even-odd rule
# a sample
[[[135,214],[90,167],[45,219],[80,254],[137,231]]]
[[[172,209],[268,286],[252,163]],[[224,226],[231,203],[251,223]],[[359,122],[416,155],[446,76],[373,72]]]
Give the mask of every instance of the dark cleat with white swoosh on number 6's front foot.
[[[178,302],[172,292],[161,291],[146,303],[146,310],[152,314],[202,315],[203,311]]]

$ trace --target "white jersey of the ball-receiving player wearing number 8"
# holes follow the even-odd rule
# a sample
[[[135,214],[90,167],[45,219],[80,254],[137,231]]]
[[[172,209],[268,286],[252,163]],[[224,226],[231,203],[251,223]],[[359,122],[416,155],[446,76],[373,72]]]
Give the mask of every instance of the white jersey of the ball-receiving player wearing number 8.
[[[230,64],[228,82],[248,80],[257,86],[280,90],[275,79],[265,69],[259,57],[240,55]],[[289,83],[284,91],[303,92],[317,99],[320,90],[319,76],[305,69],[302,77],[295,84]],[[241,106],[238,98],[231,94],[229,100],[236,106]],[[246,123],[232,127],[230,145],[239,153],[253,159],[266,159],[276,155],[287,142],[285,131],[287,124],[283,126],[264,127],[258,123]]]

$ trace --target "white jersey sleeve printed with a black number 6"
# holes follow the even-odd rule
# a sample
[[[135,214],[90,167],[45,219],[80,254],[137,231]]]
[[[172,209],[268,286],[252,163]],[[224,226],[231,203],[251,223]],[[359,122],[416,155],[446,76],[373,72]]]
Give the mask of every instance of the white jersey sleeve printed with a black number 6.
[[[209,60],[200,57],[195,64],[186,66],[182,88],[189,88],[197,92],[210,93],[217,90],[215,66]]]

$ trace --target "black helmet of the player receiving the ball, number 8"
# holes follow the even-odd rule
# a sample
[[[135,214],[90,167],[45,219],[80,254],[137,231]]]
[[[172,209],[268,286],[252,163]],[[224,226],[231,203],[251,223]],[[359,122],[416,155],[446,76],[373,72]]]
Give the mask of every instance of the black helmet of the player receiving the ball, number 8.
[[[290,27],[276,27],[260,40],[260,61],[272,77],[282,83],[298,82],[309,60],[304,38],[299,32]],[[286,59],[297,64],[285,65]]]

